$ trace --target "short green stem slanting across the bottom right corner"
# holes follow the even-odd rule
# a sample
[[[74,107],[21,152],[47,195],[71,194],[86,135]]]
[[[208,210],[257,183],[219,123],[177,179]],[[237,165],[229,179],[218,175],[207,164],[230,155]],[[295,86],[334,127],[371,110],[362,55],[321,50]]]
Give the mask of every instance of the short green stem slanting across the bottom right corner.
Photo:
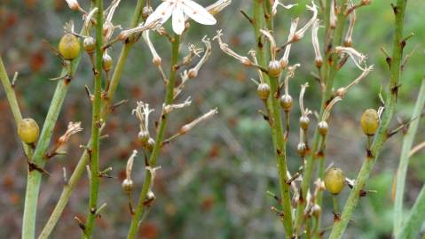
[[[409,217],[403,223],[396,239],[417,238],[421,225],[425,220],[425,185],[413,204]]]

